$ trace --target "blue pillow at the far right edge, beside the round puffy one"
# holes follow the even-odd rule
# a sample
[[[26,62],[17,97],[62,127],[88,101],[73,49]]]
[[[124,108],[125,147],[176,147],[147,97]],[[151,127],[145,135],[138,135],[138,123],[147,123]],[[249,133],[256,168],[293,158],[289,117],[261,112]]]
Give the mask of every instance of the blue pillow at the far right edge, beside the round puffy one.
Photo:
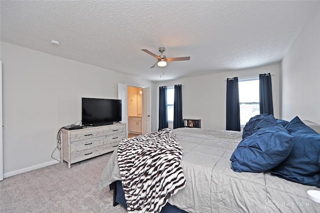
[[[271,175],[288,181],[320,187],[320,134],[306,126],[298,117],[292,119],[286,129],[293,136],[290,155]]]

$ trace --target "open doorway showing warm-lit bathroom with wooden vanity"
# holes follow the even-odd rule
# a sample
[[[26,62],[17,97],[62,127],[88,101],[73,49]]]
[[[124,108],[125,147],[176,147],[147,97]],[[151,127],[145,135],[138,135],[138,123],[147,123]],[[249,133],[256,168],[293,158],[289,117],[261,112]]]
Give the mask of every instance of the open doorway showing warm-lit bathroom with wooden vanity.
[[[142,134],[142,88],[127,87],[128,137]]]

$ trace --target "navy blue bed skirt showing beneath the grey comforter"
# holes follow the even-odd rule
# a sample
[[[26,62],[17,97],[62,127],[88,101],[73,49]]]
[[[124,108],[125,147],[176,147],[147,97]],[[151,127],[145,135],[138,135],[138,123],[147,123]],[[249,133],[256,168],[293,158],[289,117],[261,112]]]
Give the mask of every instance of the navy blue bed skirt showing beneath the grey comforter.
[[[122,189],[121,181],[115,181],[110,184],[110,190],[113,190],[113,207],[120,204],[126,209],[126,201],[124,198],[124,192]],[[160,213],[187,213],[179,208],[166,203],[166,205],[161,209]]]

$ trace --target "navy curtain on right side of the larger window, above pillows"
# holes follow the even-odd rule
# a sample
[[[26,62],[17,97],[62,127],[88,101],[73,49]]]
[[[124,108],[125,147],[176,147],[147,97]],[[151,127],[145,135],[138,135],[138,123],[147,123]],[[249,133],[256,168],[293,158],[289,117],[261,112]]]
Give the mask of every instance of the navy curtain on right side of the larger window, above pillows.
[[[259,74],[260,114],[273,115],[271,75]]]

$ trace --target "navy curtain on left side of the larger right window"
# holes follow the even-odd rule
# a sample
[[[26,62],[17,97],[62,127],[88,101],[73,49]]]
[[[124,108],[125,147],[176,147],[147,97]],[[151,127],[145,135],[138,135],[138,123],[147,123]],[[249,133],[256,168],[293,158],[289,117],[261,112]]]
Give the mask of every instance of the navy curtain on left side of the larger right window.
[[[238,78],[226,79],[226,130],[240,131]]]

